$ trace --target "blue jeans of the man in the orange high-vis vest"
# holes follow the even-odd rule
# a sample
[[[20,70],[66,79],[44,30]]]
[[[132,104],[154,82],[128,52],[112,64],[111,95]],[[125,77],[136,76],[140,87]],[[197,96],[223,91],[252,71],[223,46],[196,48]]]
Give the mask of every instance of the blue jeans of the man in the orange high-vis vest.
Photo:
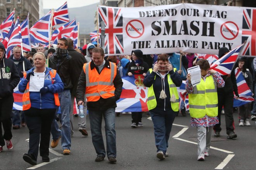
[[[90,126],[92,132],[92,143],[97,156],[106,156],[106,150],[101,132],[102,116],[105,121],[105,133],[107,142],[107,157],[116,158],[116,131],[115,131],[115,108],[107,110],[89,110]]]

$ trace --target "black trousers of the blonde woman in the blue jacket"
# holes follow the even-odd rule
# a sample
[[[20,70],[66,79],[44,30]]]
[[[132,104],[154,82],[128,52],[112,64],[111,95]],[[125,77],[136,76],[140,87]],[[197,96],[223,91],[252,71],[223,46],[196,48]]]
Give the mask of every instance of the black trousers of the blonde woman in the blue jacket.
[[[37,109],[31,107],[24,110],[25,121],[29,129],[29,150],[36,160],[40,143],[40,156],[49,155],[50,130],[56,109]],[[40,140],[41,137],[41,140]]]

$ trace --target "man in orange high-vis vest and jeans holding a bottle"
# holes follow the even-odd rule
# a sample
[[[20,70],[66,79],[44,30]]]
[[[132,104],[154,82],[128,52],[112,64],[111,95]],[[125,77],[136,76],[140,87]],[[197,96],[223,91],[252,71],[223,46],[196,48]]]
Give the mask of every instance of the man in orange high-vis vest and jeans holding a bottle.
[[[123,82],[114,63],[104,60],[104,50],[96,47],[92,51],[92,61],[85,63],[78,86],[78,105],[87,99],[92,143],[97,153],[96,162],[104,160],[106,150],[101,133],[102,117],[105,121],[107,158],[110,163],[116,163],[116,131],[115,108],[116,100],[120,98]]]

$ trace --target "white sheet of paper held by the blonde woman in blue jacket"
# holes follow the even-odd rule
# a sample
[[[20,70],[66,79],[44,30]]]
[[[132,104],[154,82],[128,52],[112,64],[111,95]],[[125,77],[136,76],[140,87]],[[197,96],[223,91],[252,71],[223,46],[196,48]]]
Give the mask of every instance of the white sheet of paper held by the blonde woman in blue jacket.
[[[45,83],[45,73],[34,73],[30,76],[29,92],[40,92]]]

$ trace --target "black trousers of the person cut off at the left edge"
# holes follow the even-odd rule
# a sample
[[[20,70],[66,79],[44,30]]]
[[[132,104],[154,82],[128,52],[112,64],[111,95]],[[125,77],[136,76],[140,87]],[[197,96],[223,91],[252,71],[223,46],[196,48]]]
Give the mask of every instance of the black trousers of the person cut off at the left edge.
[[[11,115],[13,102],[14,99],[12,95],[0,99],[0,146],[5,145],[4,139],[12,139]],[[4,133],[2,133],[2,125]]]

